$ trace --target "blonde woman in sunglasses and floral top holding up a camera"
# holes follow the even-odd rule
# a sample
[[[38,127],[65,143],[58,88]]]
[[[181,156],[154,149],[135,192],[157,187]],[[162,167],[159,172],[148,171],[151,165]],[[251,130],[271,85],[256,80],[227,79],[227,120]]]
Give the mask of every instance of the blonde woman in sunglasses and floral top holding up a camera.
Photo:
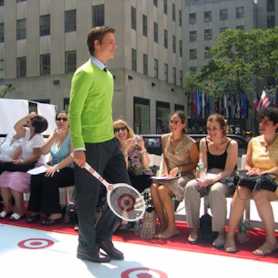
[[[131,185],[140,193],[152,184],[152,170],[149,169],[149,156],[142,136],[136,136],[124,120],[113,123],[115,137],[124,155]],[[122,220],[120,230],[129,229],[129,224]]]

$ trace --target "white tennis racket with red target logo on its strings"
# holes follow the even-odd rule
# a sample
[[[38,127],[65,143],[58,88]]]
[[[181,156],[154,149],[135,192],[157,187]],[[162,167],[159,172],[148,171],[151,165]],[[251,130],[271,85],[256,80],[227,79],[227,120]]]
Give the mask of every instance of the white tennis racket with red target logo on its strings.
[[[126,221],[136,221],[145,213],[145,200],[136,188],[126,183],[108,183],[88,163],[85,169],[106,187],[106,200],[111,211]]]

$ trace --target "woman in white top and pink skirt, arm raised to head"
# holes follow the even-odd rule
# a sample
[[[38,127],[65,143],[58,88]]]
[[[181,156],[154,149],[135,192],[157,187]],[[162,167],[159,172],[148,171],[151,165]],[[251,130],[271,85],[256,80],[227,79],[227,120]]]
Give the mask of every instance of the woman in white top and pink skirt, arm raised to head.
[[[27,121],[27,127],[24,124]],[[35,112],[19,120],[14,128],[19,136],[23,136],[20,159],[12,161],[15,165],[24,165],[33,163],[36,166],[45,163],[44,156],[41,156],[40,148],[44,144],[42,132],[47,129],[47,120],[38,116]],[[15,221],[25,217],[23,193],[30,190],[31,175],[26,172],[4,171],[0,175],[0,189],[3,197],[4,209],[0,213],[0,218],[5,218],[12,211],[13,214],[9,220]],[[11,198],[15,199],[15,205],[12,208]]]

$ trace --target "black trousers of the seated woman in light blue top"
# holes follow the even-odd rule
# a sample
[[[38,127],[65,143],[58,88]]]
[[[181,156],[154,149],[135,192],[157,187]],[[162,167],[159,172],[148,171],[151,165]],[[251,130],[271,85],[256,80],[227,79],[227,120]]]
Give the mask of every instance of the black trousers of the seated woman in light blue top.
[[[65,167],[53,177],[45,177],[45,173],[33,175],[30,185],[28,211],[41,212],[47,215],[60,213],[59,187],[74,185],[74,170]]]

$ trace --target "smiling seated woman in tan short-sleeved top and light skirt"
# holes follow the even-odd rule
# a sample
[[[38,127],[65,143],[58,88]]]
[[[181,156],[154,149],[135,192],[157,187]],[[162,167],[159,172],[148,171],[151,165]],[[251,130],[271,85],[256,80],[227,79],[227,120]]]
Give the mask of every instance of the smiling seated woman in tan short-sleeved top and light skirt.
[[[199,152],[195,140],[187,135],[187,117],[177,111],[170,117],[170,133],[161,137],[163,149],[163,177],[178,179],[157,181],[151,186],[154,208],[160,221],[159,232],[154,238],[171,238],[178,236],[175,224],[172,197],[178,201],[183,199],[183,190],[190,179],[194,179]]]

